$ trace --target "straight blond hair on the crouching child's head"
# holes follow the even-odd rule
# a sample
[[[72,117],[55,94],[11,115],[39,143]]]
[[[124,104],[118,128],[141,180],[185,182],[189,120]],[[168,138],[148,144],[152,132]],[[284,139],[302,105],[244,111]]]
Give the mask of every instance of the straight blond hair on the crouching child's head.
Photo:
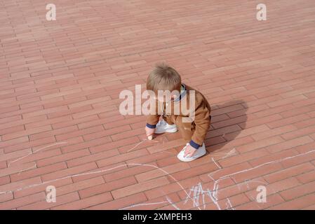
[[[165,62],[157,63],[147,78],[147,90],[154,92],[158,90],[180,91],[181,85],[180,74]]]

